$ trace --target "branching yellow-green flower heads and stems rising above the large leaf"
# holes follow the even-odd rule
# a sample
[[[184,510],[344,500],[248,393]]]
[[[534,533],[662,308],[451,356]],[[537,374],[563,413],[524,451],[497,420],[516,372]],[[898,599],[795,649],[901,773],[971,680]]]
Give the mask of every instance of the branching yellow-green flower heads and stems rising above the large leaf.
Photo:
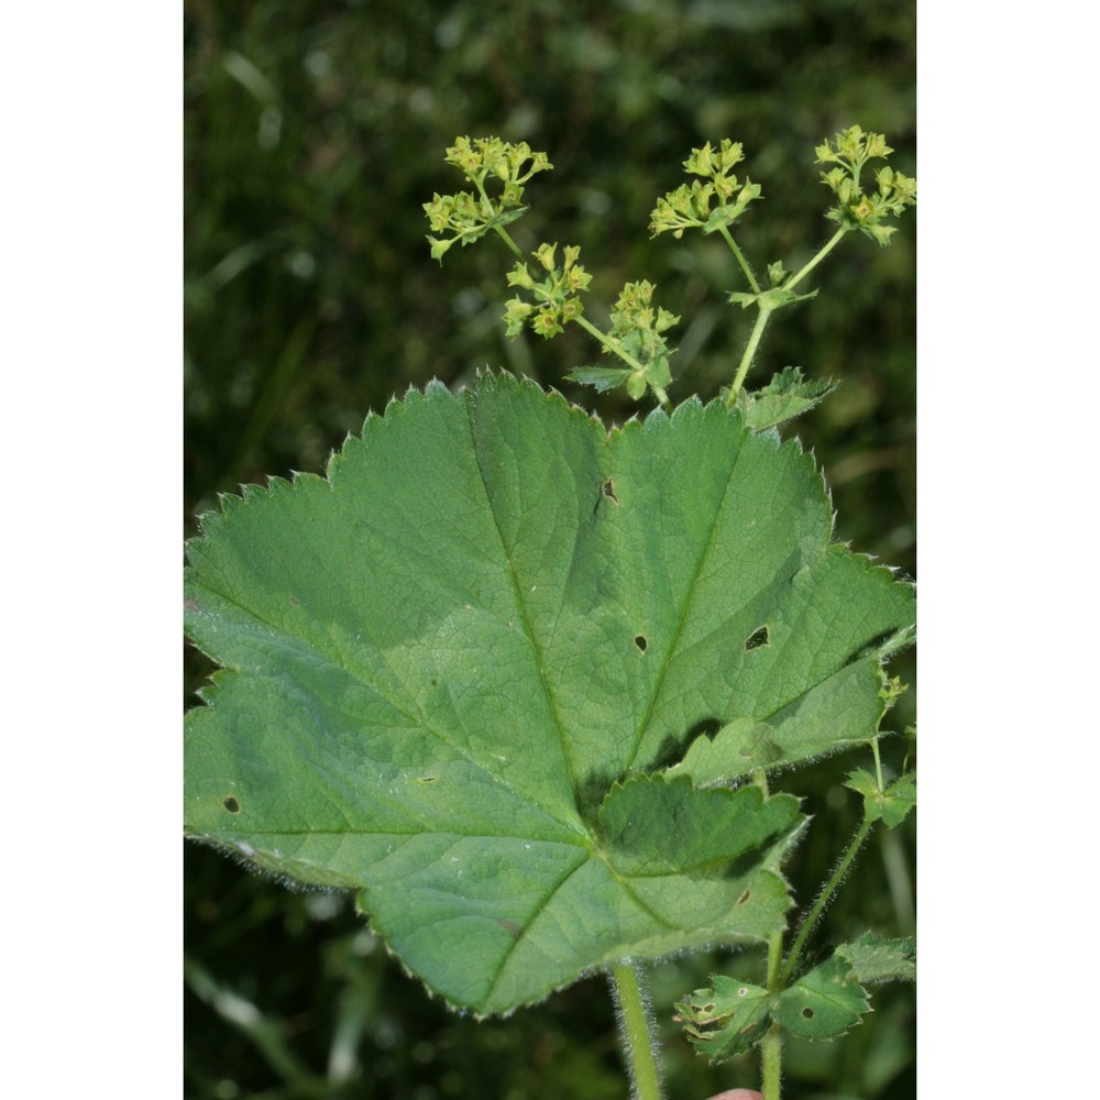
[[[679,239],[695,229],[704,234],[718,233],[748,284],[748,290],[733,292],[728,299],[743,309],[757,310],[730,384],[723,388],[728,407],[736,405],[748,415],[759,397],[773,395],[772,387],[748,394],[744,383],[771,315],[817,293],[796,293],[795,287],[850,232],[864,233],[880,245],[889,244],[895,227],[887,222],[899,218],[905,207],[915,205],[916,180],[889,165],[875,173],[876,190],[866,190],[861,183],[868,162],[886,160],[892,152],[882,134],[865,133],[859,127],[849,127],[817,146],[817,163],[833,165],[821,178],[836,198],[826,217],[838,228],[793,275],[782,261],[768,264],[767,286],[761,286],[732,232],[750,205],[762,197],[759,184],[747,176],[739,179],[734,175],[734,168],[745,158],[740,143],[723,139],[717,148],[710,142],[702,148],[693,148],[683,162],[683,169],[697,178],[657,200],[649,222],[653,237],[672,233]],[[516,337],[529,328],[549,340],[562,332],[565,324],[576,323],[600,342],[605,354],[617,358],[620,365],[579,366],[566,374],[570,381],[594,386],[600,392],[622,385],[634,400],[641,399],[648,389],[662,407],[670,408],[668,391],[673,382],[670,360],[675,349],[669,345],[667,333],[680,318],[654,305],[656,287],[647,280],[627,283],[610,309],[610,328],[604,331],[585,316],[582,295],[587,292],[592,276],[579,263],[581,250],[565,245],[559,265],[558,244],[542,243],[531,254],[535,261],[531,263],[505,228],[527,210],[521,205],[527,182],[536,173],[553,167],[547,154],[532,152],[526,142],[513,145],[498,138],[459,138],[447,151],[446,160],[474,185],[476,194],[437,194],[431,202],[424,205],[432,233],[441,234],[428,237],[432,256],[442,263],[452,245],[472,244],[490,230],[495,231],[518,260],[507,275],[508,285],[520,292],[505,305],[507,334]],[[826,385],[823,391],[820,382],[805,382],[798,367],[787,369],[782,386],[800,404],[799,411],[815,404],[829,388]]]

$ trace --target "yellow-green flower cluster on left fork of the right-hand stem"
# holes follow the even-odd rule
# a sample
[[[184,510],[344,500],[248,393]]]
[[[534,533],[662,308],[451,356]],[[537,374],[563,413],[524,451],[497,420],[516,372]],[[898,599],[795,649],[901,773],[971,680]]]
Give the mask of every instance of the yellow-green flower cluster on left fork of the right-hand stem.
[[[714,233],[733,224],[754,199],[760,198],[759,184],[754,184],[748,177],[740,184],[736,176],[730,175],[734,166],[744,160],[740,143],[728,138],[723,139],[717,150],[712,148],[710,142],[702,148],[693,148],[683,163],[684,172],[710,179],[710,183],[695,179],[690,187],[682,184],[658,199],[650,215],[650,233],[657,237],[658,233],[671,232],[680,238],[685,229],[693,227],[704,233]],[[718,205],[712,210],[715,199]]]

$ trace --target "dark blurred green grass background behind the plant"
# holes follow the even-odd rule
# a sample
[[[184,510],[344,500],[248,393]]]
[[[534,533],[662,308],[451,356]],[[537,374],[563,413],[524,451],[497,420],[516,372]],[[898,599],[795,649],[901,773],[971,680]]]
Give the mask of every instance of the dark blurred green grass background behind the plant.
[[[576,243],[601,320],[627,279],[682,315],[671,396],[727,383],[751,315],[721,241],[650,241],[649,211],[692,146],[732,138],[763,186],[737,232],[758,272],[795,270],[831,233],[814,145],[854,122],[916,174],[912,0],[187,0],[185,2],[185,526],[266,475],[319,471],[366,411],[432,377],[527,374],[622,421],[615,395],[562,381],[595,360],[580,330],[503,336],[510,254],[491,239],[440,266],[421,202],[462,187],[458,134],[549,153],[513,227],[524,246]],[[755,384],[787,364],[840,389],[794,428],[823,463],[838,534],[915,572],[915,211],[880,250],[849,238],[812,302],[772,322]],[[750,375],[750,385],[754,375]],[[894,672],[912,682],[912,654]],[[208,666],[187,651],[188,701]],[[892,725],[912,721],[906,696]],[[887,749],[898,767],[902,746]],[[806,904],[854,832],[845,756],[777,784],[816,815],[789,866]],[[912,821],[872,838],[816,943],[913,932]],[[614,1013],[591,978],[506,1021],[444,1010],[337,894],[294,893],[219,854],[185,850],[185,1094],[295,1098],[620,1098]],[[678,1036],[674,999],[754,955],[654,968],[669,1094],[751,1086],[751,1058],[711,1068]],[[784,1100],[910,1100],[914,998],[884,987],[834,1044],[792,1043]]]

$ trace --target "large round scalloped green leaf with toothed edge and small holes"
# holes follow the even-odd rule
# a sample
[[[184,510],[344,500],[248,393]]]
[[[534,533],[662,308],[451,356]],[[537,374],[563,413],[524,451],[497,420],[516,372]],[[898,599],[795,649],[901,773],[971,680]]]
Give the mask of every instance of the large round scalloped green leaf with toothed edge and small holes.
[[[188,631],[224,669],[187,719],[187,832],[358,890],[480,1013],[766,938],[802,817],[730,780],[872,736],[912,622],[831,539],[812,459],[718,404],[607,431],[508,377],[413,392],[190,543]]]

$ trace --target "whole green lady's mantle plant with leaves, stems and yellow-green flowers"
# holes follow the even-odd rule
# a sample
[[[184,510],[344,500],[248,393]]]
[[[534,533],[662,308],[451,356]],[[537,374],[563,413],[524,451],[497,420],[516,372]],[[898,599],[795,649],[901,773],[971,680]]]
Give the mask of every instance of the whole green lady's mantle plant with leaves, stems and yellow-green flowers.
[[[889,244],[915,202],[881,135],[816,152],[836,229],[794,272],[761,279],[736,241],[761,198],[739,144],[692,150],[690,182],[657,200],[650,232],[719,234],[744,280],[729,300],[755,311],[719,397],[675,405],[680,318],[658,288],[627,283],[594,323],[580,250],[525,254],[508,232],[547,155],[457,140],[472,189],[425,205],[432,255],[503,241],[508,333],[578,324],[603,361],[566,377],[657,407],[608,429],[508,375],[432,384],[370,416],[326,476],[224,498],[188,546],[188,632],[222,667],[186,719],[188,835],[354,891],[459,1009],[507,1013],[606,971],[642,1100],[662,1094],[650,960],[760,946],[762,983],[718,974],[674,1011],[712,1060],[759,1047],[766,1100],[784,1035],[833,1040],[871,985],[914,976],[910,941],[806,953],[870,832],[916,801],[912,754],[889,780],[879,755],[912,586],[834,540],[812,457],[777,430],[834,383],[784,367],[746,387],[822,260],[849,234]],[[806,817],[776,778],[860,747],[862,824],[792,920],[782,867]]]

